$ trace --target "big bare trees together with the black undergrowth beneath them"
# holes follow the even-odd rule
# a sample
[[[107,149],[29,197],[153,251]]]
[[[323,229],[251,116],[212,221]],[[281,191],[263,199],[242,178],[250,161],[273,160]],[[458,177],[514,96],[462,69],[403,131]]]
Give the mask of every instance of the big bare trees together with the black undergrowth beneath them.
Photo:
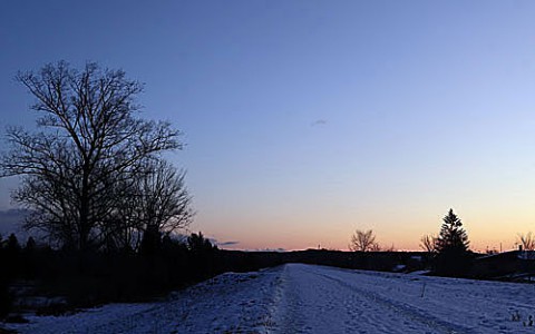
[[[16,80],[35,98],[37,128],[7,128],[0,177],[19,177],[12,199],[29,213],[23,227],[51,247],[20,246],[14,235],[1,243],[3,310],[21,279],[84,305],[154,295],[215,272],[216,249],[201,234],[169,237],[194,216],[185,171],[165,158],[183,148],[182,132],[139,117],[143,84],[66,61]]]

